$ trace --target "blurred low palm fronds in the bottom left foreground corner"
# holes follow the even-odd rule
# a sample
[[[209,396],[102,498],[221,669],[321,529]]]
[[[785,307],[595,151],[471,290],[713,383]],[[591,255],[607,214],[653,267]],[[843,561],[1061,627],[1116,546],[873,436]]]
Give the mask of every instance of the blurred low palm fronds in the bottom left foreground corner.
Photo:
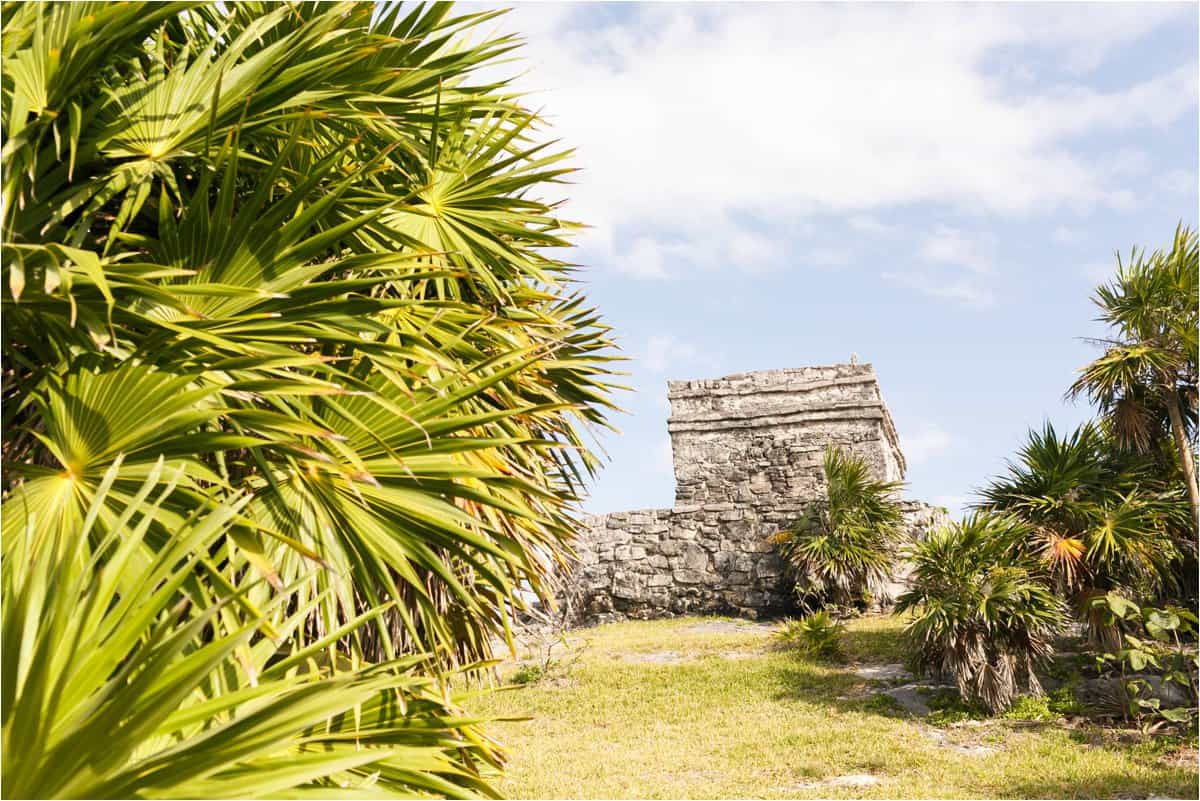
[[[227,532],[246,498],[145,547],[181,478],[163,462],[95,547],[119,460],[78,530],[4,561],[4,794],[492,795],[479,767],[499,765],[496,746],[421,675],[421,657],[338,669],[334,638],[295,637],[305,608],[293,592],[253,620],[197,580],[200,554],[229,566]],[[244,595],[253,579],[230,580]],[[268,619],[271,637],[259,631]]]

